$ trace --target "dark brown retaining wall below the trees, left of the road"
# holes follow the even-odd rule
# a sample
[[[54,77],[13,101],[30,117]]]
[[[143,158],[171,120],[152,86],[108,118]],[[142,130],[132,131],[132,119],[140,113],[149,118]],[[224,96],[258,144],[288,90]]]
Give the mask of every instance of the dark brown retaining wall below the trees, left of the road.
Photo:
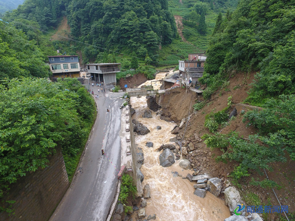
[[[0,199],[16,201],[12,206],[15,215],[2,212],[1,221],[46,221],[50,218],[69,187],[69,181],[61,149],[57,148],[57,153],[48,159],[47,167],[21,177],[11,185],[9,195]]]

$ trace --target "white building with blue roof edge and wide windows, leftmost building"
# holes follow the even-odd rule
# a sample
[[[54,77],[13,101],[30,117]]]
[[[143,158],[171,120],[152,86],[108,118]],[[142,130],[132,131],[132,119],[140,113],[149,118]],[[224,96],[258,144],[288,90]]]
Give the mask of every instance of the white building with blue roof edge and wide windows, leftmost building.
[[[79,78],[80,64],[78,55],[48,56],[53,78]]]

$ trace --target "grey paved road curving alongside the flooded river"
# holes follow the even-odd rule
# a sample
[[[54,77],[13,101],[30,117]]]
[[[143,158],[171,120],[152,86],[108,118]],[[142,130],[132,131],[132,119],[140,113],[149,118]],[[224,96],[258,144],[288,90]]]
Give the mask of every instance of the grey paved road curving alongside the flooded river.
[[[117,188],[120,167],[120,116],[118,93],[99,94],[98,114],[79,173],[59,203],[50,221],[105,221]],[[117,96],[117,98],[116,98]],[[110,112],[106,110],[109,109]],[[104,146],[105,155],[101,156]],[[117,167],[117,169],[115,169]]]

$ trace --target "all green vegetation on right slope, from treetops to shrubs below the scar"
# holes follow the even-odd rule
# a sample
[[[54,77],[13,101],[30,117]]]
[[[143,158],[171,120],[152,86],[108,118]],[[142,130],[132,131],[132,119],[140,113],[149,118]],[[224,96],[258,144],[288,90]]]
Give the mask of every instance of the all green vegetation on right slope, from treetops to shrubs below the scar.
[[[218,160],[239,164],[232,173],[236,181],[250,169],[295,160],[294,12],[294,1],[240,0],[236,11],[216,21],[201,79],[207,84],[204,98],[225,87],[237,72],[256,72],[244,102],[264,108],[244,115],[244,122],[258,129],[250,140],[236,133],[203,137],[209,147],[224,152]]]

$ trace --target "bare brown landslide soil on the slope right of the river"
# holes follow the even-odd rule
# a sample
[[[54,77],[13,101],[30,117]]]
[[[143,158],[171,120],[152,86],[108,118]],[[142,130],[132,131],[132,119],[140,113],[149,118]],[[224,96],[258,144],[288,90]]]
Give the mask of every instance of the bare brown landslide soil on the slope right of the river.
[[[228,164],[221,162],[216,163],[214,156],[221,155],[222,152],[220,150],[210,150],[203,141],[193,141],[195,140],[194,134],[197,134],[200,138],[204,134],[211,134],[208,129],[204,127],[205,116],[211,111],[221,111],[227,107],[229,96],[232,96],[232,109],[236,106],[237,116],[235,120],[230,121],[230,125],[225,128],[219,128],[218,132],[221,131],[221,134],[228,134],[231,131],[235,131],[243,138],[248,138],[249,135],[257,133],[256,128],[252,126],[246,127],[246,124],[242,122],[243,116],[240,114],[240,111],[242,109],[244,111],[248,110],[246,108],[242,108],[240,105],[236,105],[241,103],[247,97],[247,91],[250,89],[249,84],[252,83],[253,79],[254,73],[246,75],[242,73],[236,74],[236,76],[230,79],[228,86],[216,91],[212,95],[211,100],[204,106],[203,109],[200,111],[194,111],[193,108],[191,108],[190,113],[193,114],[189,120],[184,140],[187,142],[193,142],[195,149],[199,150],[200,154],[197,156],[188,154],[186,155],[186,158],[191,160],[191,162],[195,165],[194,168],[200,170],[200,174],[207,172],[213,176],[220,177],[223,181],[225,181],[229,179],[229,174],[236,166],[236,163],[234,162],[228,162]],[[192,101],[192,105],[194,105],[196,103],[196,98],[197,96],[194,92],[188,91],[186,94],[185,89],[177,88],[172,90],[170,94],[163,96],[160,105],[163,108],[165,117],[179,123],[182,118],[188,116],[190,103]],[[178,137],[181,136],[182,138],[184,128],[185,127],[182,127],[180,133],[177,135]],[[269,179],[276,182],[280,186],[279,190],[275,188],[275,192],[278,195],[281,204],[289,206],[289,213],[294,213],[295,162],[288,159],[286,163],[273,163],[271,166],[273,171],[266,172]],[[240,181],[241,189],[239,189],[239,191],[241,195],[246,197],[248,193],[255,193],[262,201],[262,205],[278,206],[279,203],[272,190],[263,189],[260,186],[257,187],[250,185],[249,182],[252,178],[256,180],[263,180],[266,178],[266,175],[263,172],[260,175],[256,171],[251,171],[250,177],[243,178]],[[277,214],[268,214],[268,216],[264,214],[263,218],[265,220],[279,220]]]

